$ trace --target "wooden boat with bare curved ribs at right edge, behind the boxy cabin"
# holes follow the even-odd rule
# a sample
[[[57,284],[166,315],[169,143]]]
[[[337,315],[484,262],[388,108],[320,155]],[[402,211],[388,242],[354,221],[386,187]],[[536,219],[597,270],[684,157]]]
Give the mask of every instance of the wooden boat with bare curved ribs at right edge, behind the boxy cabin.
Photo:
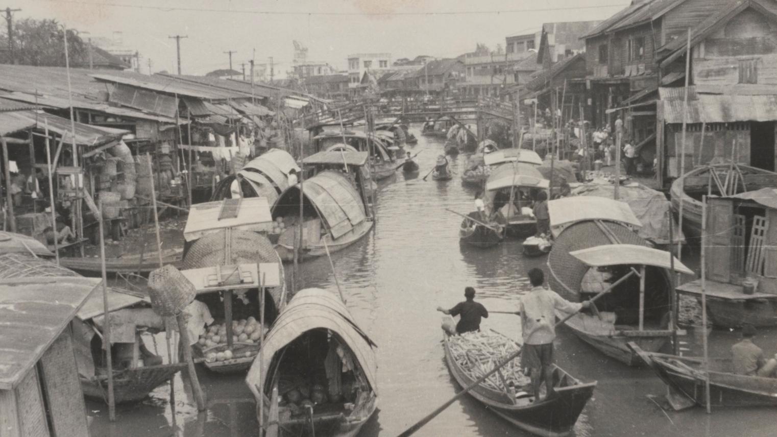
[[[711,191],[717,196],[726,196],[768,187],[777,187],[777,173],[742,164],[726,163],[696,167],[674,180],[669,194],[672,208],[678,214],[680,203],[683,204],[683,230],[687,232],[688,237],[699,238],[702,235],[702,195]]]

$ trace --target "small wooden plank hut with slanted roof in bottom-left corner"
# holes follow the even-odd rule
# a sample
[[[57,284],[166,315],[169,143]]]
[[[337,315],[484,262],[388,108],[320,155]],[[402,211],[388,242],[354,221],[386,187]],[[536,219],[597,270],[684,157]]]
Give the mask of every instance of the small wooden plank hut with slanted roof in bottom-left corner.
[[[89,435],[69,324],[100,283],[56,277],[0,281],[2,437]]]

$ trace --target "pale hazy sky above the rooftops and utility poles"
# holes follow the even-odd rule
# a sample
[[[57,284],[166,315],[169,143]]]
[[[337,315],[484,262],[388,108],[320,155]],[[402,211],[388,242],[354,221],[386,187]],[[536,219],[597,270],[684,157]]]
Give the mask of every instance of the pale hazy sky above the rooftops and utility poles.
[[[16,18],[54,18],[82,37],[119,36],[137,50],[141,72],[176,72],[181,40],[183,74],[203,75],[253,58],[272,57],[276,78],[291,70],[292,41],[308,47],[309,61],[347,67],[352,53],[428,54],[453,58],[492,49],[504,37],[540,30],[542,23],[606,19],[629,0],[9,0]],[[118,33],[117,33],[118,32]],[[248,68],[246,66],[246,68]]]

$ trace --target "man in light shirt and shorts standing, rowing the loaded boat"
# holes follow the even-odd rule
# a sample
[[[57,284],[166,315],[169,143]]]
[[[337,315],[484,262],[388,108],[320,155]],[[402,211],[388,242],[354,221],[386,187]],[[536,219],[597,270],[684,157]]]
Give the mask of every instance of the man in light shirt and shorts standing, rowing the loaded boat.
[[[556,338],[556,309],[564,313],[577,313],[588,308],[589,302],[569,302],[556,292],[544,288],[545,274],[532,268],[529,273],[531,291],[521,296],[517,315],[521,316],[521,332],[524,348],[521,352],[521,367],[531,376],[531,389],[535,402],[539,400],[539,388],[545,380],[547,393],[553,391],[553,340]]]

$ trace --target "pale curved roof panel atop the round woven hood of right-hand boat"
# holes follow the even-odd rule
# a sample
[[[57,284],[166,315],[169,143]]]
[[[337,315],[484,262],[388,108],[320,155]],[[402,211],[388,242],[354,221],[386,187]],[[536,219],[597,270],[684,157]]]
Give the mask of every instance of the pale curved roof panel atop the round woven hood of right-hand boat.
[[[609,220],[636,227],[642,226],[629,204],[594,196],[573,196],[548,202],[551,227],[587,220]],[[555,232],[554,232],[555,233]]]

